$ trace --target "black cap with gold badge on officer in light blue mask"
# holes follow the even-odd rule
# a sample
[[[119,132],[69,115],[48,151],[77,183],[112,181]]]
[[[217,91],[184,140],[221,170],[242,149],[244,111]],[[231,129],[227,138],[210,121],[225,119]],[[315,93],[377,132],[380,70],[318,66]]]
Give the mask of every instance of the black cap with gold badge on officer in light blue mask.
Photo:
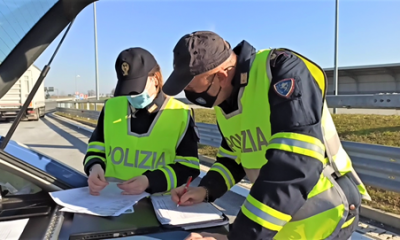
[[[136,95],[146,87],[149,72],[157,66],[154,56],[143,48],[122,51],[115,62],[118,83],[114,96]]]

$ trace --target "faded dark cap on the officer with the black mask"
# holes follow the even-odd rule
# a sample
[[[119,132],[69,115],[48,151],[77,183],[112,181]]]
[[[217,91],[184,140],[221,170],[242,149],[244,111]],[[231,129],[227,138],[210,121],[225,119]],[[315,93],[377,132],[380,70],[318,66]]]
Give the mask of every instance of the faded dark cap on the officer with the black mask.
[[[180,93],[196,75],[208,72],[225,62],[232,50],[228,42],[211,31],[184,35],[174,48],[174,70],[163,86],[163,92]]]

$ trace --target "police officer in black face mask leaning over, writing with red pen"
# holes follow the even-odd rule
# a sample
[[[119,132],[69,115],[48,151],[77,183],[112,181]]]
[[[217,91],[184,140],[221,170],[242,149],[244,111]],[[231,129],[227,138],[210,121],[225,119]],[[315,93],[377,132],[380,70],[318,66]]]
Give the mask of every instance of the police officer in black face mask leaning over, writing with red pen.
[[[214,107],[223,138],[199,187],[178,187],[172,199],[214,201],[245,175],[254,183],[228,236],[187,239],[351,237],[369,195],[328,111],[324,71],[289,49],[256,51],[246,41],[231,49],[209,31],[183,36],[173,52],[164,92]]]

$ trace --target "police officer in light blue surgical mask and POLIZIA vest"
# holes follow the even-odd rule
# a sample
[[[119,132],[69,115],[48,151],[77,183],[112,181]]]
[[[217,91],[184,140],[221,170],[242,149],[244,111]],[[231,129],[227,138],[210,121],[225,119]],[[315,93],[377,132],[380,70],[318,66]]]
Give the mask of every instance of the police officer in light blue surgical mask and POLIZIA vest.
[[[200,174],[190,108],[162,92],[160,67],[143,48],[122,51],[118,83],[89,139],[84,170],[90,193],[110,181],[123,194],[169,191]]]

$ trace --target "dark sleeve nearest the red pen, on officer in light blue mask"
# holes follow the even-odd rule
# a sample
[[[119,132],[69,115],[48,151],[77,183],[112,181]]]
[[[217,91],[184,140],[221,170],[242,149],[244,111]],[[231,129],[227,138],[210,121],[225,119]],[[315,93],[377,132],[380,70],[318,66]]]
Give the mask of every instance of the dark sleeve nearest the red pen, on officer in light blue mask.
[[[193,179],[199,176],[198,142],[195,122],[190,117],[186,133],[176,149],[175,162],[163,168],[146,171],[143,174],[149,179],[149,188],[146,189],[146,192],[153,194],[170,191],[185,184],[189,176],[192,176]]]

